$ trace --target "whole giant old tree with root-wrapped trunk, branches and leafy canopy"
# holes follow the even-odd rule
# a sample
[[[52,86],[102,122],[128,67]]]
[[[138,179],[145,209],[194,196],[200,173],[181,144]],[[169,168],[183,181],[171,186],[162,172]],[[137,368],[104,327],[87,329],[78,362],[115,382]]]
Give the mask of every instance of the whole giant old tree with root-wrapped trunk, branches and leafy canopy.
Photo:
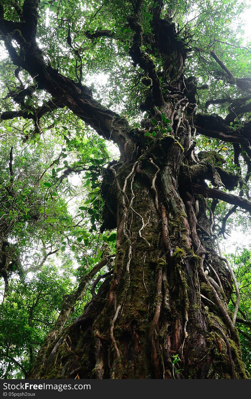
[[[120,152],[108,163],[99,145],[88,168],[85,160],[65,164],[66,175],[88,169],[87,227],[97,229],[103,201],[101,233],[111,231],[105,241],[112,243],[117,229],[116,251],[109,246],[65,296],[31,378],[249,377],[235,327],[238,283],[219,242],[228,217],[251,210],[250,51],[232,27],[244,5],[175,3],[1,3],[0,39],[9,57],[1,120],[12,120],[12,128],[22,124],[17,118],[28,122],[25,142],[40,141],[56,121],[51,134],[75,149],[88,125]],[[84,83],[100,72],[109,85],[97,93]],[[63,122],[67,112],[72,132]],[[12,151],[6,196],[16,201]],[[61,176],[60,166],[52,169],[53,184]],[[222,201],[231,207],[219,227]],[[1,251],[11,228],[5,226]],[[91,300],[64,328],[91,281]]]

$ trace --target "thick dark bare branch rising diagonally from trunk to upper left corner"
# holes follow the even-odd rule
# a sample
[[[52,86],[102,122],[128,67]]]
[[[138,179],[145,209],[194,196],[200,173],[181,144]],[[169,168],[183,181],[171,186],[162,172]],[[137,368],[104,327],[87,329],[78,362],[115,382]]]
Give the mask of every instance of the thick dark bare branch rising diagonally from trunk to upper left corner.
[[[32,24],[34,25],[37,18],[34,11],[37,0],[27,0],[25,3],[27,7],[30,4],[32,9],[31,11],[26,10],[26,20],[29,12],[32,12]],[[93,127],[100,135],[108,140],[112,138],[123,152],[124,144],[128,141],[128,136],[126,136],[128,123],[126,120],[93,99],[92,92],[87,86],[80,82],[76,84],[73,80],[58,73],[51,65],[45,63],[43,52],[32,37],[33,25],[24,22],[20,30],[16,29],[13,32],[13,29],[11,29],[12,38],[22,48],[20,55],[13,47],[5,25],[6,21],[0,19],[0,30],[3,32],[2,37],[12,62],[30,73],[37,82],[38,89],[46,90],[57,101],[67,106],[75,115]]]

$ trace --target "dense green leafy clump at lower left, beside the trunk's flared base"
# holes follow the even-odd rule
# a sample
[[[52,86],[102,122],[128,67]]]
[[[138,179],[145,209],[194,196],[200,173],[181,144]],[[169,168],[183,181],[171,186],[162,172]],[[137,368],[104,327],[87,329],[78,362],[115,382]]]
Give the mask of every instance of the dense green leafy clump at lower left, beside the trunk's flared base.
[[[26,281],[12,280],[0,308],[1,378],[23,378],[73,285],[71,267],[44,265]],[[20,370],[12,359],[24,368]],[[25,374],[27,375],[27,374]]]

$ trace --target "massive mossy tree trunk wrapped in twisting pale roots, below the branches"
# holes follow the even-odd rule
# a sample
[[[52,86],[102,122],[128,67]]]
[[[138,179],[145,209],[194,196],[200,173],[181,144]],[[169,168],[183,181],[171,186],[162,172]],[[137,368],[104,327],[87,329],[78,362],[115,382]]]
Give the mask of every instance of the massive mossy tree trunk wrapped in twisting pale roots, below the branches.
[[[189,131],[182,134],[187,149]],[[227,310],[231,276],[214,249],[206,199],[186,186],[174,137],[148,145],[143,152],[127,143],[103,183],[106,211],[117,212],[113,277],[45,343],[30,377],[247,377]]]

